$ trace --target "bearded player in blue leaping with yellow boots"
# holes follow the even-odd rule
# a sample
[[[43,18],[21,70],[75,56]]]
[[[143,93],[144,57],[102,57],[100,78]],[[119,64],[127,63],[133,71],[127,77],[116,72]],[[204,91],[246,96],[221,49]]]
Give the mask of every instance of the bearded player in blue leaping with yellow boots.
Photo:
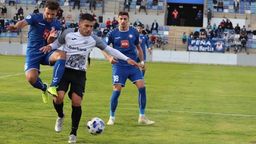
[[[43,14],[29,14],[26,19],[17,22],[15,26],[8,26],[7,28],[7,30],[16,31],[24,26],[30,25],[25,75],[28,82],[33,87],[42,90],[44,103],[49,102],[49,94],[58,97],[56,87],[65,70],[65,52],[61,50],[52,50],[49,53],[44,53],[39,50],[41,47],[54,42],[58,31],[61,30],[61,24],[55,18],[58,9],[59,2],[56,0],[47,0]],[[53,80],[50,87],[47,83],[42,83],[39,78],[39,74],[41,73],[40,64],[54,66]]]

